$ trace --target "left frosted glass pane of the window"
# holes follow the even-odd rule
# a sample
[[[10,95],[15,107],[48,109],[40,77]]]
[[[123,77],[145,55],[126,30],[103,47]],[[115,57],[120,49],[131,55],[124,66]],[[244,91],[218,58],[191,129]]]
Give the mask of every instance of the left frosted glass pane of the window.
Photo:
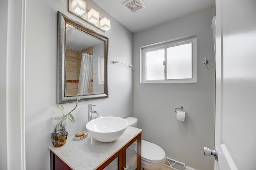
[[[164,49],[146,52],[146,80],[164,80]]]

